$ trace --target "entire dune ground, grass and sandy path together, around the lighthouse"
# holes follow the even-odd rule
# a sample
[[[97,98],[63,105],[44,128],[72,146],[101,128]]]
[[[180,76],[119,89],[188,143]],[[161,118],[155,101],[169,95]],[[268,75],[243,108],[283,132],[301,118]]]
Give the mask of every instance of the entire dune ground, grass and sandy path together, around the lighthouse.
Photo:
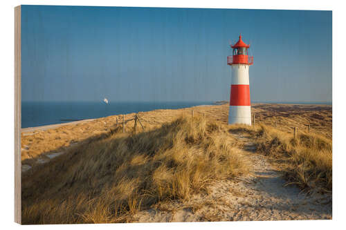
[[[254,104],[252,109],[256,116],[256,127],[247,128],[246,132],[243,132],[244,127],[242,126],[227,125],[228,106],[225,104],[138,113],[145,128],[145,131],[143,131],[138,124],[138,135],[133,135],[134,113],[125,115],[125,134],[122,134],[121,115],[63,124],[61,126],[38,127],[24,131],[21,136],[23,178],[25,182],[23,185],[24,192],[22,193],[24,195],[23,204],[25,204],[24,217],[27,222],[42,222],[44,220],[51,223],[331,219],[331,106]],[[172,137],[172,139],[171,133],[163,135],[166,131],[165,127],[167,127],[165,122],[176,123],[176,119],[180,115],[187,115],[190,118],[192,110],[196,118],[183,122],[183,127],[189,131],[190,124],[193,124],[195,128],[201,128],[199,131],[203,133],[202,135],[184,137],[183,135],[186,135],[187,131],[181,130],[181,134],[177,136],[180,138],[179,141],[176,140],[176,137]],[[305,124],[309,123],[313,124],[311,133],[316,133],[316,135],[302,135],[307,133]],[[271,128],[271,131],[268,132],[268,135],[260,137],[263,133],[261,128],[264,127],[262,124],[265,124],[267,128]],[[176,131],[172,124],[168,126],[172,128],[173,133]],[[298,134],[300,135],[300,140],[296,143],[292,140],[292,127],[294,126],[298,127]],[[210,134],[210,132],[215,131],[216,133]],[[271,136],[277,132],[282,135],[282,140],[280,140],[281,137],[277,139],[277,137]],[[153,133],[161,133],[159,136],[161,142],[148,139]],[[219,137],[210,135],[219,135]],[[183,144],[184,148],[177,145],[174,147],[175,152],[170,151],[169,146],[171,144],[168,146],[164,144],[167,141],[171,143],[171,139],[168,137],[174,140],[172,144]],[[268,137],[270,138],[264,140]],[[200,142],[200,140],[203,140],[203,142]],[[262,146],[260,145],[261,140]],[[166,150],[161,153],[162,155],[158,154],[156,157],[163,157],[162,159],[165,159],[167,167],[172,168],[163,168],[165,171],[158,167],[158,171],[161,170],[160,173],[157,175],[155,173],[151,174],[150,177],[155,178],[159,175],[160,180],[163,180],[163,182],[165,180],[178,180],[178,178],[170,178],[170,173],[172,173],[172,170],[185,170],[185,168],[176,168],[176,163],[170,157],[173,157],[177,162],[181,162],[179,164],[185,164],[185,160],[181,157],[192,157],[191,159],[194,159],[194,157],[200,156],[208,158],[210,153],[206,151],[206,146],[212,147],[214,151],[218,149],[215,153],[230,154],[228,156],[231,158],[227,159],[231,160],[232,166],[226,166],[222,170],[227,169],[232,173],[226,177],[206,178],[204,181],[200,177],[201,175],[194,174],[196,173],[194,169],[186,168],[190,174],[179,174],[179,171],[177,171],[178,174],[176,175],[184,178],[179,179],[181,182],[184,181],[181,184],[183,187],[178,187],[183,191],[190,192],[182,193],[182,197],[171,194],[174,199],[164,199],[165,195],[162,196],[163,200],[160,198],[158,200],[147,198],[146,202],[149,203],[146,206],[143,204],[141,207],[142,201],[129,198],[130,200],[127,200],[125,204],[121,204],[121,207],[125,205],[125,208],[120,207],[120,214],[113,213],[112,202],[119,202],[119,199],[122,202],[121,199],[128,193],[131,186],[138,184],[133,184],[131,181],[122,183],[122,179],[124,179],[122,178],[122,171],[125,173],[125,169],[129,168],[131,169],[130,174],[136,175],[136,173],[139,173],[138,175],[142,176],[141,171],[161,165],[162,160],[158,161],[161,162],[160,164],[148,163],[156,159],[156,150],[153,153],[147,153],[143,150],[158,148],[160,143],[165,146]],[[201,143],[204,143],[203,148],[199,146]],[[311,169],[302,169],[304,170],[303,178],[299,178],[300,175],[296,173],[300,173],[300,171],[295,171],[294,168],[300,165],[302,159],[307,159],[306,157],[309,156],[304,157],[302,155],[301,158],[299,155],[300,153],[308,154],[309,145],[315,145],[316,147],[311,147],[310,151],[318,152],[318,154],[316,152],[316,154],[310,155],[311,160],[315,162],[311,165],[316,166],[316,169],[313,167]],[[138,153],[138,150],[133,149],[134,153],[132,153],[131,148],[134,146],[144,152]],[[260,146],[262,152],[258,149]],[[295,152],[298,151],[296,152],[298,162],[289,160],[284,155],[286,153],[280,153],[277,159],[275,159],[275,153],[272,156],[270,155],[270,151],[280,151],[283,146],[287,147],[284,151],[289,151],[289,148]],[[122,152],[122,149],[126,151]],[[161,147],[158,149],[161,149]],[[183,151],[179,151],[179,149],[183,149]],[[215,153],[212,153],[210,157]],[[116,158],[116,160],[113,159],[119,154],[122,156],[127,155],[123,159],[124,163],[120,166],[117,162],[122,157]],[[154,154],[154,158],[152,154]],[[220,156],[219,160],[215,162],[223,162],[226,155]],[[197,158],[194,160],[197,160]],[[324,160],[326,160],[326,164],[324,164]],[[206,164],[208,160],[197,160],[197,162]],[[145,166],[146,164],[151,166]],[[208,165],[200,167],[200,170],[208,169]],[[205,173],[210,177],[211,174],[208,174],[208,170]],[[289,186],[286,186],[289,182],[286,180],[286,171],[290,171],[288,175],[291,178],[295,177],[293,178],[294,183]],[[322,174],[319,175],[322,178],[310,177],[310,174],[317,175],[320,172]],[[87,175],[88,173],[90,175]],[[50,178],[55,178],[57,174],[59,174],[58,178],[60,180],[53,182],[51,179],[47,179],[48,175]],[[116,175],[122,179],[114,179]],[[189,179],[185,175],[193,176]],[[215,175],[218,174],[213,176]],[[46,181],[41,182],[41,180]],[[189,184],[196,183],[194,180],[203,181],[203,189],[189,190]],[[148,183],[150,185],[155,181],[156,179],[152,179]],[[60,185],[57,186],[57,184]],[[83,185],[81,186],[81,184]],[[113,186],[110,191],[116,193],[119,198],[115,199],[109,195],[106,187],[102,187],[105,184],[109,186],[106,186],[108,189]],[[144,184],[147,184],[147,182]],[[83,204],[86,201],[89,202],[88,195],[91,195],[89,189],[85,190],[84,186],[90,186],[89,189],[95,190],[95,194],[93,194],[95,197],[90,200],[90,202],[92,200],[98,201],[93,204],[95,209],[89,207],[90,210],[84,210],[86,207]],[[166,185],[163,183],[160,186]],[[100,188],[101,190],[98,191]],[[37,191],[37,189],[41,194],[39,196],[32,192],[33,190]],[[302,192],[301,189],[309,191],[309,195]],[[125,193],[118,194],[122,190]],[[69,199],[64,200],[66,197],[60,191],[64,191]],[[79,192],[75,193],[76,191]],[[101,191],[104,191],[104,193],[101,193]],[[173,191],[175,190],[170,189],[170,186],[165,190],[169,194]],[[138,191],[138,193],[142,192],[142,190]],[[55,193],[54,198],[51,197],[53,193]],[[74,195],[77,194],[80,194],[80,196],[77,198],[79,201],[75,204],[76,198],[74,198]],[[161,197],[161,195],[158,195],[158,197]],[[109,201],[102,203],[103,196]],[[133,203],[130,204],[129,202]],[[69,207],[68,212],[66,212],[64,205]],[[54,212],[59,217],[55,214],[45,214],[48,209],[51,209],[50,207],[54,207]],[[77,210],[78,213],[73,210]],[[81,211],[86,212],[81,214]],[[42,215],[44,215],[44,219],[42,219]]]

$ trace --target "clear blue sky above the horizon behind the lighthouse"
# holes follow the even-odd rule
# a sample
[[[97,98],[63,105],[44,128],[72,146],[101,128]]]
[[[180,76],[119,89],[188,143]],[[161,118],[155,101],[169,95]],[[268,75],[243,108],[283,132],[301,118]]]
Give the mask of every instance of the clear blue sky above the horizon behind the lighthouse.
[[[22,101],[216,101],[239,33],[252,102],[331,102],[331,11],[22,6]]]

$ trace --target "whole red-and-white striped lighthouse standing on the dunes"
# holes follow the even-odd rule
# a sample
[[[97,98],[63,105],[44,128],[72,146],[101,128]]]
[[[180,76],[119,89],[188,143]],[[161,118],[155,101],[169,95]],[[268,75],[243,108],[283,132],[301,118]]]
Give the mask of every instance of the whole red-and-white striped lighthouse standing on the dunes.
[[[250,45],[242,41],[242,35],[239,36],[239,41],[230,47],[233,48],[233,55],[227,57],[227,64],[232,68],[228,124],[251,125],[248,68],[253,64],[253,56],[248,56]]]

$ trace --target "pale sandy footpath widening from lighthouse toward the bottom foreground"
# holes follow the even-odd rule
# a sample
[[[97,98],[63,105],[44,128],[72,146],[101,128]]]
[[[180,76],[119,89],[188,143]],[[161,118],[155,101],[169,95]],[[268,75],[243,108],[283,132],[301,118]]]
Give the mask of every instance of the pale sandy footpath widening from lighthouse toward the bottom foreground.
[[[284,186],[280,172],[266,156],[255,153],[251,139],[233,134],[244,143],[242,154],[251,165],[246,177],[212,184],[208,193],[189,201],[161,204],[140,211],[134,222],[194,222],[232,220],[331,219],[331,196],[304,195],[295,186]]]

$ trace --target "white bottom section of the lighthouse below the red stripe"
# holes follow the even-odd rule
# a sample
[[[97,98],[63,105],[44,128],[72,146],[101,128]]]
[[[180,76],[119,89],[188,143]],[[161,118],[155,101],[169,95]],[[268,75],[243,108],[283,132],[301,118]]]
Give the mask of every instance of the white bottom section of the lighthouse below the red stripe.
[[[228,124],[248,124],[251,126],[251,106],[230,106]]]

